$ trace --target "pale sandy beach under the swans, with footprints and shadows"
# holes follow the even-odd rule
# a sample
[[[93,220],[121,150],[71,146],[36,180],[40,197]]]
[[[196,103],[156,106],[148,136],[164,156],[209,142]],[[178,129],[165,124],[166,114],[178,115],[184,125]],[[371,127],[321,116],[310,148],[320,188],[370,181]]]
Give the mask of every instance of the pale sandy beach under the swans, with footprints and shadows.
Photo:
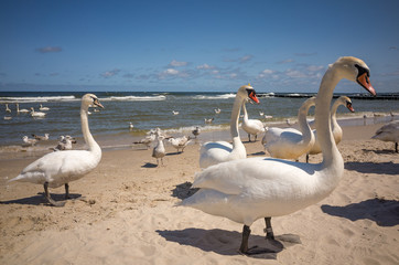
[[[175,206],[199,171],[201,136],[183,153],[166,146],[161,167],[151,150],[104,151],[93,172],[69,183],[75,199],[64,208],[47,205],[41,186],[6,184],[36,157],[1,159],[0,264],[399,264],[399,155],[370,139],[378,127],[343,128],[338,187],[273,218],[276,242],[265,240],[262,220],[254,223],[249,245],[270,250],[261,256],[237,252],[241,224]],[[259,140],[245,145],[249,157],[263,155]],[[62,200],[64,189],[51,193]]]

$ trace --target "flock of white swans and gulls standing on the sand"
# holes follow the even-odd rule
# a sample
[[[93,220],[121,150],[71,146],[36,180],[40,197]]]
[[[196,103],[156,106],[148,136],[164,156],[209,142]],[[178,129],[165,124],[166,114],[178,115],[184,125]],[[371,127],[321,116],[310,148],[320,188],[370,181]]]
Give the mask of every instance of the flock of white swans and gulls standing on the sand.
[[[330,108],[334,88],[342,78],[356,82],[370,94],[376,95],[369,82],[369,68],[366,63],[356,57],[339,57],[328,66],[316,97],[308,99],[299,109],[300,130],[265,128],[261,124],[249,119],[245,104],[248,100],[259,103],[259,99],[249,84],[241,86],[236,94],[231,109],[233,144],[216,141],[206,142],[201,147],[199,167],[203,170],[195,176],[192,186],[199,190],[184,199],[180,205],[198,209],[242,224],[240,253],[246,255],[262,253],[265,250],[248,245],[250,225],[256,220],[265,219],[267,240],[274,240],[271,218],[287,215],[317,203],[337,187],[343,176],[344,161],[336,146],[342,138],[342,129],[337,127],[335,112],[341,105],[353,110],[352,102],[347,97],[342,97]],[[309,108],[314,105],[315,130],[312,130],[305,116]],[[87,113],[91,106],[103,107],[95,95],[86,94],[82,98],[80,121],[88,150],[47,153],[29,165],[10,181],[42,184],[45,198],[52,205],[64,205],[65,202],[54,201],[50,197],[48,187],[56,188],[64,184],[67,199],[68,183],[78,180],[96,168],[101,158],[101,149],[88,127]],[[258,134],[263,132],[262,142],[271,158],[247,158],[246,148],[240,140],[238,130],[241,109],[244,112],[242,129],[246,130],[249,138],[255,136],[255,139]],[[393,121],[384,126],[377,131],[375,138],[392,140],[390,137],[395,136],[395,141],[398,141],[398,121]],[[195,137],[199,135],[198,127],[193,130],[193,135]],[[157,141],[152,156],[162,162],[163,140],[166,138],[168,136],[161,129],[154,129],[140,144],[147,145],[148,141]],[[170,138],[169,140],[177,151],[180,149],[183,151],[184,144],[181,145],[181,142],[186,144],[190,141],[190,137],[185,137],[185,139]],[[313,146],[315,147],[313,148]],[[285,149],[285,152],[281,149]],[[288,160],[296,160],[299,153],[317,152],[323,155],[321,163]]]

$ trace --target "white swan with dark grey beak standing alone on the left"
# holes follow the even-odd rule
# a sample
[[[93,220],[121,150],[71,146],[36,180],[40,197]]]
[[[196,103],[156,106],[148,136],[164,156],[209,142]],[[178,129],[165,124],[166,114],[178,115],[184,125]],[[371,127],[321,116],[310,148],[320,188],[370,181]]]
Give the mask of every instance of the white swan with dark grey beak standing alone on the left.
[[[87,118],[87,109],[90,106],[104,106],[94,94],[86,94],[82,97],[80,123],[82,132],[88,145],[88,150],[68,150],[51,152],[29,165],[22,172],[10,181],[24,181],[35,184],[43,184],[44,195],[48,203],[54,206],[63,206],[65,202],[54,201],[50,188],[65,186],[65,199],[69,198],[69,182],[78,180],[95,169],[101,159],[101,148],[93,138]]]

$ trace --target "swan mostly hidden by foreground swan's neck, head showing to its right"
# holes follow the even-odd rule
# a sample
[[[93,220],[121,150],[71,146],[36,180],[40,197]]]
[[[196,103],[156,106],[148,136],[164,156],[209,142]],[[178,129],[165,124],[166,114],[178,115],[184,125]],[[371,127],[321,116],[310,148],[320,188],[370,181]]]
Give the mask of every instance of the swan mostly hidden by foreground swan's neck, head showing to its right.
[[[352,113],[355,112],[355,109],[352,107],[352,100],[347,96],[338,97],[331,107],[331,129],[333,131],[333,137],[336,145],[341,142],[343,136],[342,128],[336,121],[336,110],[338,109],[339,106],[346,106],[347,109],[349,109]],[[322,148],[317,139],[317,131],[313,130],[313,135],[314,135],[314,144],[306,153],[306,162],[309,162],[309,155],[316,155],[322,152]]]

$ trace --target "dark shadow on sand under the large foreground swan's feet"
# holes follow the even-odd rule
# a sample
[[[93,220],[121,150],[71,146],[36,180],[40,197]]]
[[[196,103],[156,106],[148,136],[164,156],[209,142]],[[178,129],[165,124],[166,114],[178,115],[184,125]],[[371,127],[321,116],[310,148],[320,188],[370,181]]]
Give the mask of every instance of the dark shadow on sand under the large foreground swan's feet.
[[[241,255],[238,252],[237,242],[241,239],[241,233],[236,231],[226,231],[220,229],[185,229],[185,230],[157,230],[166,241],[198,247],[204,252],[215,252],[220,255],[236,256]],[[276,240],[266,240],[265,236],[252,235],[251,245],[258,245],[266,250],[266,253],[251,255],[254,258],[276,259],[277,254],[283,248],[300,244],[298,235],[285,234],[278,235]]]

